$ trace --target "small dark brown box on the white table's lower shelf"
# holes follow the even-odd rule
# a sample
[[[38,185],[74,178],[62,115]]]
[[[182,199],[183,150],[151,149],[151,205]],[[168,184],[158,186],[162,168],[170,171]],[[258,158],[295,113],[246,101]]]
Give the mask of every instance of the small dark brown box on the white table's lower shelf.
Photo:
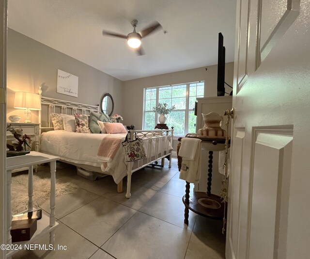
[[[12,221],[12,243],[30,240],[36,230],[37,219],[22,219]]]

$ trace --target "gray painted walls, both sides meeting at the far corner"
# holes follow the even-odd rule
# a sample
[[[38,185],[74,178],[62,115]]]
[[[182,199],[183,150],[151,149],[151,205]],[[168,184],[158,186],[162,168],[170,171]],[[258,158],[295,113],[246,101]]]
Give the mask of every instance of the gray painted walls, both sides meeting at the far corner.
[[[207,70],[205,69],[207,68]],[[78,97],[57,93],[57,69],[78,76]],[[225,81],[233,84],[233,63],[225,67]],[[16,91],[37,93],[42,85],[45,97],[96,105],[105,93],[114,99],[114,113],[124,118],[124,125],[142,129],[143,88],[205,81],[205,97],[217,96],[217,65],[200,67],[158,76],[120,81],[90,65],[86,65],[19,32],[8,29],[7,42],[7,121],[10,115],[21,116],[14,109]],[[230,88],[227,87],[227,92]],[[31,112],[32,122],[38,122],[38,112]]]

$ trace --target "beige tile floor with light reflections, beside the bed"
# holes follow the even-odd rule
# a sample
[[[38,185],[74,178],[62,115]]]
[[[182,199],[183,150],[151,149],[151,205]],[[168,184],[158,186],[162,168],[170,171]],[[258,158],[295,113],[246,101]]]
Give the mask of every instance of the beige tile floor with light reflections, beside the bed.
[[[183,223],[182,196],[177,160],[172,167],[147,167],[133,173],[131,198],[118,194],[108,176],[91,181],[76,168],[58,163],[56,178],[78,185],[78,192],[56,198],[55,244],[66,250],[20,251],[13,259],[219,259],[225,258],[222,222],[190,211]],[[37,173],[49,177],[47,166]],[[49,202],[41,205],[49,212]],[[48,236],[38,241],[48,244]]]

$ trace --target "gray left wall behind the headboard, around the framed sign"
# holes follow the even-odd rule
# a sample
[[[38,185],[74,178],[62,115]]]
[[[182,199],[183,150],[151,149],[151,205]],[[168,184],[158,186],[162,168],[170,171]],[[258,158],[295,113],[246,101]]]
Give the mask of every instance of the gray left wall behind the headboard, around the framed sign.
[[[78,97],[57,93],[57,69],[78,76]],[[21,116],[23,110],[14,109],[17,91],[38,93],[42,85],[45,97],[96,105],[105,93],[114,99],[114,113],[123,113],[123,82],[106,73],[37,42],[19,32],[8,29],[7,41],[7,121],[10,115]],[[38,112],[31,111],[32,122],[38,122]]]

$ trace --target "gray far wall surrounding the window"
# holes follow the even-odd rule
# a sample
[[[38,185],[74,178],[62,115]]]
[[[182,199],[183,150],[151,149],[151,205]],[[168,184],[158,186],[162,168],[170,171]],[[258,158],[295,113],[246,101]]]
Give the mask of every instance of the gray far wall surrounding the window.
[[[142,129],[143,88],[194,81],[204,81],[204,97],[217,96],[217,65],[124,81],[123,106],[126,107],[122,114],[124,124],[133,124],[136,129]],[[233,62],[225,65],[225,81],[233,86]],[[227,93],[232,90],[228,86],[225,89]]]

